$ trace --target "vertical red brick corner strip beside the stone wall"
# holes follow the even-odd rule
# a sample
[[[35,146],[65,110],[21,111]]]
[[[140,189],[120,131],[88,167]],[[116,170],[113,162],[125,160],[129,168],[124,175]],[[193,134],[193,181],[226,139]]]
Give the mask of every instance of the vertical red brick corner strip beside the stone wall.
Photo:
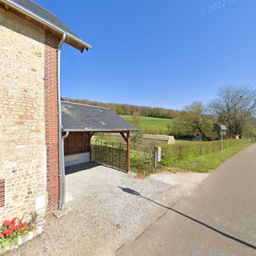
[[[47,151],[47,212],[59,199],[57,48],[59,39],[45,32],[45,122]]]

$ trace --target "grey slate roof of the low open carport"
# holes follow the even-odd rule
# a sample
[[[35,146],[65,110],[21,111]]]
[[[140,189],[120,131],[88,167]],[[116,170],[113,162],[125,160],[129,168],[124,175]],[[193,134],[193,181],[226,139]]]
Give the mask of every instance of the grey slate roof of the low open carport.
[[[83,132],[138,131],[111,109],[61,101],[62,130]]]

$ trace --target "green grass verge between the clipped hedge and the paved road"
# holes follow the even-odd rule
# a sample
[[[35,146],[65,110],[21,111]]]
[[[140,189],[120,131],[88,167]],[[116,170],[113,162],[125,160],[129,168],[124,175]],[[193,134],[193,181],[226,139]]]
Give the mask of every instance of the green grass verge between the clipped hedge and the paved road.
[[[182,170],[191,170],[198,173],[209,172],[210,170],[215,169],[222,162],[251,144],[251,142],[245,142],[240,145],[228,147],[223,150],[223,153],[221,153],[221,151],[217,151],[204,156],[183,160],[178,162],[174,166],[181,168]]]

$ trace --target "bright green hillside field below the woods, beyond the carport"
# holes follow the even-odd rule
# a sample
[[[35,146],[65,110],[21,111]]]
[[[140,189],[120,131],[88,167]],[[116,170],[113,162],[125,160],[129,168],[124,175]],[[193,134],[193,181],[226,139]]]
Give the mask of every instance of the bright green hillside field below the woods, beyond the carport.
[[[133,116],[120,115],[127,122],[132,123]],[[172,119],[157,118],[157,117],[141,117],[142,132],[144,134],[162,134],[167,135],[168,130],[166,124],[172,124]]]

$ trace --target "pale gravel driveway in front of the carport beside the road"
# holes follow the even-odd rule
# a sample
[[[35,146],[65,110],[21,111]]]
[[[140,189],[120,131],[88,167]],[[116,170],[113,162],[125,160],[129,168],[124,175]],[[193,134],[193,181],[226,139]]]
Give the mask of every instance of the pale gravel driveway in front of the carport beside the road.
[[[161,173],[144,179],[91,164],[68,169],[67,202],[72,211],[58,220],[47,217],[45,231],[10,255],[113,255],[135,239],[208,174]]]

